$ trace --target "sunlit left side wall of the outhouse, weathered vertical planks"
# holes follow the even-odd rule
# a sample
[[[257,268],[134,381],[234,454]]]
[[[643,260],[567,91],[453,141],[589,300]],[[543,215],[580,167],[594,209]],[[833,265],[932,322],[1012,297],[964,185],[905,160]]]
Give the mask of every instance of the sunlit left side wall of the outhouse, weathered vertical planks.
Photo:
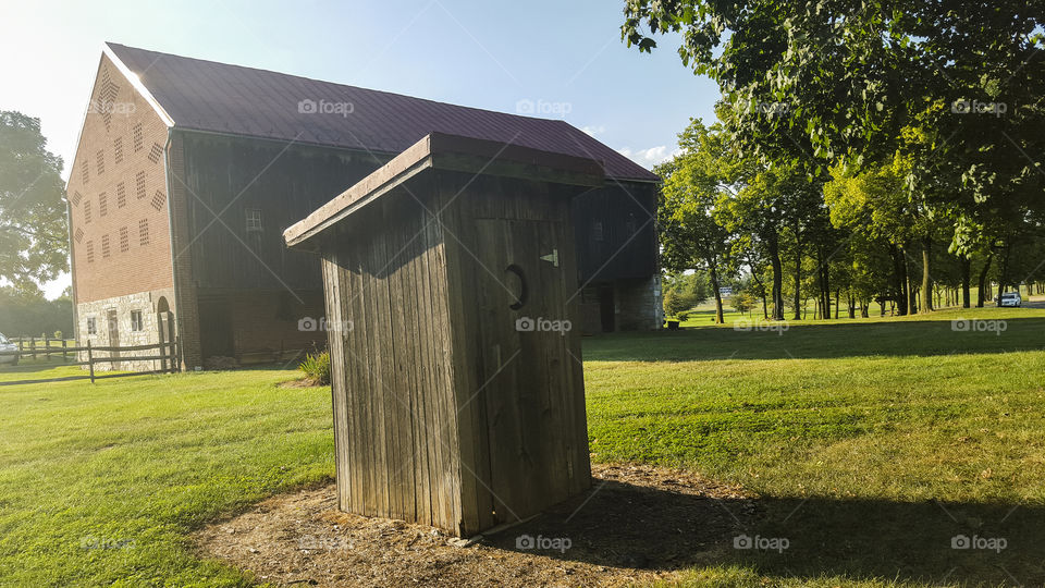
[[[421,194],[425,189],[411,188]],[[408,195],[339,226],[323,255],[341,507],[460,528],[443,235]]]

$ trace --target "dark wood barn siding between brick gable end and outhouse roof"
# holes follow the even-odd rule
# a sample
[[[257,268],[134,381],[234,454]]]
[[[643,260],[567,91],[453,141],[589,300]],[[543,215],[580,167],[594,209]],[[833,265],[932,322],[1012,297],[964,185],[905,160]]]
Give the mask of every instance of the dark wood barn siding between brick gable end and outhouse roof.
[[[192,267],[199,289],[322,287],[315,258],[283,230],[384,161],[336,149],[182,132]],[[262,229],[248,231],[247,209]],[[220,221],[214,220],[218,215]],[[182,252],[176,252],[181,254]]]

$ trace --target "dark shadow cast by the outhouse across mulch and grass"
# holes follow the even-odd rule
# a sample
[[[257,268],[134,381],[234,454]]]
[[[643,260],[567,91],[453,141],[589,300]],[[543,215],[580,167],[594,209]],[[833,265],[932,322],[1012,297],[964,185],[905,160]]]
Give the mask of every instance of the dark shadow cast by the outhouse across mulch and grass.
[[[533,540],[520,541],[524,536]],[[561,538],[569,549],[556,549]],[[654,571],[736,564],[800,580],[1045,583],[1041,505],[715,499],[595,480],[588,494],[488,542],[563,561]]]

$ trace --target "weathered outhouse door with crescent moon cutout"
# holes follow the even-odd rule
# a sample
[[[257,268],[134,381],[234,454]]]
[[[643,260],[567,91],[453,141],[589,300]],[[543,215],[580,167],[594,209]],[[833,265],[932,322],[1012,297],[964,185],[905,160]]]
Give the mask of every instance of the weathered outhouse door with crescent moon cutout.
[[[477,401],[485,405],[495,519],[509,523],[569,495],[578,469],[570,462],[585,426],[582,372],[569,348],[579,333],[566,316],[576,278],[564,256],[573,243],[558,221],[483,219],[477,231],[487,382]]]

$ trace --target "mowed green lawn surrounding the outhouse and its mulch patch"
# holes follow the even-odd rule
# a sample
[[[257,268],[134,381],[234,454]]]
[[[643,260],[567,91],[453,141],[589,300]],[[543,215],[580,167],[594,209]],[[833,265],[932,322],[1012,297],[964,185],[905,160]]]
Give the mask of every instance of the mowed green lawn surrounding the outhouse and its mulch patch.
[[[723,537],[687,585],[1045,584],[1045,309],[590,338],[585,376],[594,460],[742,485],[738,534],[787,540]],[[296,377],[0,385],[0,584],[249,585],[187,535],[333,475],[329,390]]]

